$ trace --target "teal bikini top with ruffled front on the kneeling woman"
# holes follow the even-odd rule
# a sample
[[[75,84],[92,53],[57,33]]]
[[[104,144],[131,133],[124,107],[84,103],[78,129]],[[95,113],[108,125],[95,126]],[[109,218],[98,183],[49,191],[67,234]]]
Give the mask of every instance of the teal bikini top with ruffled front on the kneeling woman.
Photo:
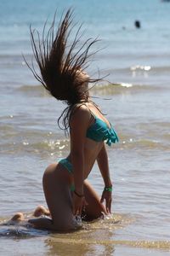
[[[90,111],[91,112],[91,111]],[[92,113],[92,112],[91,112]],[[111,143],[116,143],[119,141],[116,131],[111,127],[109,128],[102,119],[99,119],[94,115],[94,124],[90,125],[86,133],[86,137],[94,140],[95,142],[106,141],[106,144],[111,146]],[[111,124],[110,124],[111,125]]]

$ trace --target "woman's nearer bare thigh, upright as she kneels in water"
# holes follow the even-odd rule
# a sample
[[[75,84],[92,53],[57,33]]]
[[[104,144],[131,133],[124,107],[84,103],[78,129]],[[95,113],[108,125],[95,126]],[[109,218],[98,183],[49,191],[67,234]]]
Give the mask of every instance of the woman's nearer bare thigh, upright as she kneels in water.
[[[63,166],[52,164],[44,172],[42,183],[54,226],[58,230],[72,229],[70,174]]]

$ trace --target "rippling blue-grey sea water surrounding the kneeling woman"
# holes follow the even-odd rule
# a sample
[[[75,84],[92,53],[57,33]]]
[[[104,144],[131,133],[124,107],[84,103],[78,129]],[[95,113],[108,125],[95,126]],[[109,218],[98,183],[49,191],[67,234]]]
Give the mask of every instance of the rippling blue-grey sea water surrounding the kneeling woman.
[[[69,153],[57,126],[65,105],[22,55],[31,61],[30,24],[42,31],[70,7],[84,38],[100,39],[88,73],[111,82],[91,95],[120,137],[108,148],[113,214],[65,235],[1,225],[0,255],[169,255],[170,3],[161,0],[0,0],[0,221],[46,205],[44,169]],[[97,165],[88,180],[101,195]]]

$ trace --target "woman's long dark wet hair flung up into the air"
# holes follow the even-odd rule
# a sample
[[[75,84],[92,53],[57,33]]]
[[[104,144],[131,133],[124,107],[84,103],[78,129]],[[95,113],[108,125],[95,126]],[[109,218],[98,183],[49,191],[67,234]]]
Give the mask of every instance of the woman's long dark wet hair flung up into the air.
[[[31,47],[41,74],[36,72],[33,61],[31,61],[31,65],[26,61],[34,77],[44,88],[57,100],[68,105],[58,119],[59,125],[59,120],[62,118],[65,132],[68,132],[71,113],[76,108],[77,103],[88,101],[87,89],[84,89],[85,86],[82,84],[96,83],[100,80],[89,77],[82,80],[78,76],[77,71],[80,68],[84,70],[88,67],[89,57],[95,54],[95,52],[90,54],[89,49],[98,40],[88,38],[80,44],[82,26],[79,26],[72,42],[68,43],[68,38],[74,28],[72,21],[72,11],[68,9],[65,16],[61,17],[57,31],[55,31],[55,15],[47,33],[47,21],[45,22],[42,37],[30,26]],[[37,32],[37,40],[35,39],[35,32]],[[60,125],[59,128],[62,129]]]

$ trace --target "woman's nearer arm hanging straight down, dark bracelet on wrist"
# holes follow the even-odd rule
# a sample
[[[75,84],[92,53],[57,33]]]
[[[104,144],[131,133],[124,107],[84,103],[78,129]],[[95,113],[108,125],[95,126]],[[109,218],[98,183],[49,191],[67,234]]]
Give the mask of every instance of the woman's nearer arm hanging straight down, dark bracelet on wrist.
[[[71,163],[73,166],[75,184],[75,193],[73,195],[74,214],[81,214],[82,212],[84,142],[88,129],[89,119],[90,113],[88,108],[83,105],[77,108],[71,117]]]

